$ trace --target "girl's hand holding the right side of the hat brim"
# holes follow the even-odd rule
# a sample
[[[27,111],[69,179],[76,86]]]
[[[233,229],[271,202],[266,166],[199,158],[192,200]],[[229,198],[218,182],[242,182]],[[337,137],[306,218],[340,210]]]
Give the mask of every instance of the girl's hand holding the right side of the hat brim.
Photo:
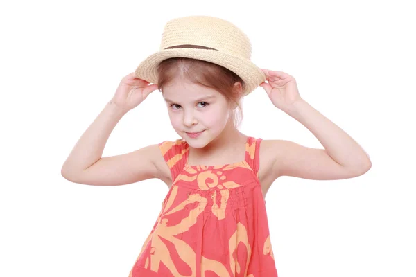
[[[275,107],[288,111],[291,105],[302,100],[297,90],[296,80],[291,75],[281,71],[261,70],[266,74],[268,83],[262,82],[260,87],[267,92]]]

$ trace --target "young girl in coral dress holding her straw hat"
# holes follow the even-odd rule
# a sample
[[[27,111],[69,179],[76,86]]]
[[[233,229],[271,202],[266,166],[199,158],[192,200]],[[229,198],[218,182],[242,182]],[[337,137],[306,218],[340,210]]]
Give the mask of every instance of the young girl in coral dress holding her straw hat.
[[[264,200],[273,181],[346,179],[370,169],[365,151],[300,97],[291,75],[257,68],[250,53],[248,37],[223,19],[169,21],[160,51],[121,80],[65,161],[62,175],[80,184],[167,184],[130,277],[277,276]],[[240,100],[259,86],[324,149],[239,132]],[[181,139],[101,157],[116,123],[156,89]]]

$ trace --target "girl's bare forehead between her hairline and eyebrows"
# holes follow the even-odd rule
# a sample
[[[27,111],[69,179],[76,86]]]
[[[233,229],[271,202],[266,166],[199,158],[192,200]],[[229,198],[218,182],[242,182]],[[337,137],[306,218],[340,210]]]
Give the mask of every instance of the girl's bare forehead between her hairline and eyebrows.
[[[202,86],[201,84],[195,84],[186,80],[175,80],[170,84],[164,85],[162,95],[165,99],[180,102],[207,96],[218,97],[220,93],[215,89]]]

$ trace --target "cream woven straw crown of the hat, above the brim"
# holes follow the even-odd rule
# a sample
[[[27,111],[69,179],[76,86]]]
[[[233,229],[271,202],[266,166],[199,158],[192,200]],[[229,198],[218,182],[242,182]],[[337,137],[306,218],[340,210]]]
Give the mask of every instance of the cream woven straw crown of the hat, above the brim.
[[[237,26],[218,17],[191,16],[168,21],[162,34],[160,50],[187,45],[215,50],[250,60],[250,39]],[[199,47],[196,47],[199,48]]]

